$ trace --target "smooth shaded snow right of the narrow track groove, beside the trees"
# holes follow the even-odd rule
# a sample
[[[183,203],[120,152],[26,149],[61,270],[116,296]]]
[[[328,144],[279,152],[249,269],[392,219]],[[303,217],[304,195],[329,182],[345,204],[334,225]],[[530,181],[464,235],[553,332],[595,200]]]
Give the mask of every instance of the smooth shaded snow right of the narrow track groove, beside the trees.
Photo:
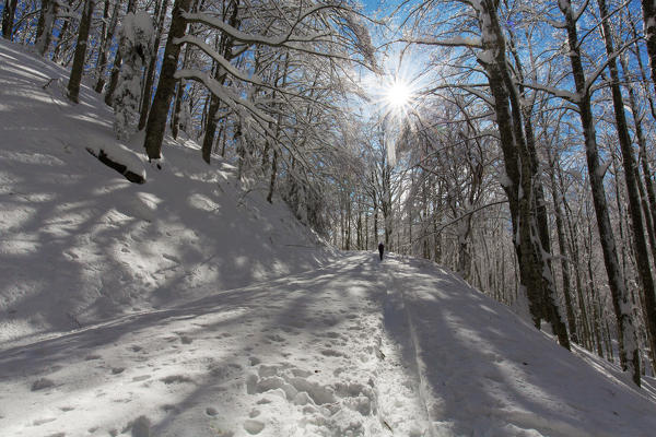
[[[415,340],[433,435],[656,435],[653,378],[636,389],[432,263],[390,262],[386,273]]]

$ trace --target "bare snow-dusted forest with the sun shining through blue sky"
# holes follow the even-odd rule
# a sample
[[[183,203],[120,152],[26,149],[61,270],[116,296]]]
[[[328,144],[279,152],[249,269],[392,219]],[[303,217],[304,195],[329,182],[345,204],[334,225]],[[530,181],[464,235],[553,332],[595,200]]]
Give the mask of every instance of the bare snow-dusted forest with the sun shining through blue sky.
[[[165,134],[190,138],[338,248],[432,260],[654,374],[654,2],[0,8],[2,37],[70,68],[71,102],[102,94],[153,172]]]

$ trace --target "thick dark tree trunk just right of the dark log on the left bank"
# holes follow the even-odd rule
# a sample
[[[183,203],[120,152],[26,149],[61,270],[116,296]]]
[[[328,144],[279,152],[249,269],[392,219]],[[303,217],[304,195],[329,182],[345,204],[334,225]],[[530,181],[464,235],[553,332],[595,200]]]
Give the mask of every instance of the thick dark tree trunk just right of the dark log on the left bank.
[[[162,70],[160,72],[160,81],[157,91],[153,99],[152,109],[148,116],[145,126],[145,147],[149,160],[160,160],[162,157],[162,141],[164,141],[164,132],[166,131],[166,119],[168,117],[168,107],[171,98],[175,91],[174,74],[177,70],[177,61],[180,55],[180,46],[174,44],[174,40],[181,38],[187,28],[187,22],[181,14],[189,10],[191,0],[176,0],[173,5],[171,28],[168,29],[168,38],[166,48],[164,49],[164,59],[162,61]]]

